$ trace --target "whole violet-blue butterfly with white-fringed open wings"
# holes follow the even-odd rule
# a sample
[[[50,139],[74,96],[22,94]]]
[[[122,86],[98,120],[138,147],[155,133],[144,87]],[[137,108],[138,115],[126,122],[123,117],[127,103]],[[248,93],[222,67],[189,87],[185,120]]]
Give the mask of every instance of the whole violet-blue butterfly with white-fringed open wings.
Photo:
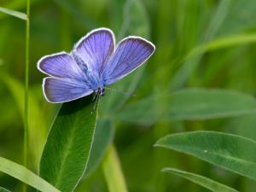
[[[48,102],[70,102],[96,93],[103,96],[105,86],[140,67],[154,53],[155,46],[136,36],[122,39],[115,47],[113,32],[108,28],[92,30],[65,51],[45,55],[38,70],[49,75],[43,80]]]

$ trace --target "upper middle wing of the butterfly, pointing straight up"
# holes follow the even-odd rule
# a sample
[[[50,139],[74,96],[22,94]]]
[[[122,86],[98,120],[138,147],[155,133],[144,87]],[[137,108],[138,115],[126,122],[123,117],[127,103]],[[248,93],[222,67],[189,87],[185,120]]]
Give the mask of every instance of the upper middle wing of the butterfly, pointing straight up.
[[[102,68],[105,67],[108,58],[113,54],[114,44],[113,32],[107,28],[99,28],[81,38],[74,46],[73,53],[84,61],[86,67],[80,66],[82,69],[88,68],[101,76]]]

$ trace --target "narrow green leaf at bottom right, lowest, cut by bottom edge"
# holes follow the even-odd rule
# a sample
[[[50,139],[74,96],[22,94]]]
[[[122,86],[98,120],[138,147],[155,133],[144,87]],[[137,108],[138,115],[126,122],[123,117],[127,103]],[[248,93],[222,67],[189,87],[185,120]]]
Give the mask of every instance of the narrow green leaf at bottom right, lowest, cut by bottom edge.
[[[203,177],[201,175],[197,175],[192,172],[184,172],[182,170],[178,170],[175,168],[164,168],[162,172],[169,172],[174,175],[177,175],[179,177],[183,177],[188,179],[189,181],[192,181],[194,183],[197,183],[201,185],[202,187],[209,189],[213,192],[219,192],[219,191],[224,191],[224,192],[238,192],[236,189],[232,189],[222,183],[218,183],[216,181],[213,181],[210,178]]]

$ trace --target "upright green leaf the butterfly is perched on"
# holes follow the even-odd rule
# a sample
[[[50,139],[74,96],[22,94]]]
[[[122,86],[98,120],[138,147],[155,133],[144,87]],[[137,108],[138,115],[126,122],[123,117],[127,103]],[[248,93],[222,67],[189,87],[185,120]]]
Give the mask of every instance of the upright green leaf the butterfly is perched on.
[[[62,192],[75,189],[88,165],[96,127],[91,101],[86,96],[64,103],[44,146],[40,176]]]

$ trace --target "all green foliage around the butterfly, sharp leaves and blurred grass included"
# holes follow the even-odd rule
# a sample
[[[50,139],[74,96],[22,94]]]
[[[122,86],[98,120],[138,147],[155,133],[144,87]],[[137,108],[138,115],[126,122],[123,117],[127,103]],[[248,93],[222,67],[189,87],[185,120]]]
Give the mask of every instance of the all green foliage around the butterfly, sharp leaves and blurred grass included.
[[[0,191],[253,192],[255,18],[253,0],[1,1]],[[156,45],[111,85],[136,96],[46,102],[37,61],[101,26]]]

